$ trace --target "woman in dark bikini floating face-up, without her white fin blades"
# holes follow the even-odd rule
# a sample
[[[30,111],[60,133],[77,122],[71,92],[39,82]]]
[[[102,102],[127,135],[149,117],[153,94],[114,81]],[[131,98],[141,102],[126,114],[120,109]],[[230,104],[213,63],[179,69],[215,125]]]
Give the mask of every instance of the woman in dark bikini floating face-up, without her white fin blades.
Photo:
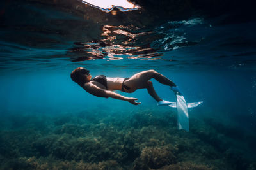
[[[120,94],[113,92],[113,90],[120,90],[122,92],[132,93],[137,89],[147,89],[148,94],[152,96],[159,106],[169,105],[170,102],[161,99],[154,90],[152,81],[150,79],[154,78],[159,83],[163,85],[170,86],[170,90],[173,90],[176,94],[181,92],[179,88],[165,76],[157,73],[154,70],[142,71],[140,73],[134,74],[131,78],[112,78],[106,77],[104,75],[96,76],[92,79],[90,71],[83,67],[77,67],[70,74],[71,79],[78,85],[83,87],[86,92],[97,96],[97,97],[111,97],[114,99],[119,99],[123,101],[128,101],[131,104],[138,105],[141,102],[136,102],[138,99],[133,97],[125,97]]]

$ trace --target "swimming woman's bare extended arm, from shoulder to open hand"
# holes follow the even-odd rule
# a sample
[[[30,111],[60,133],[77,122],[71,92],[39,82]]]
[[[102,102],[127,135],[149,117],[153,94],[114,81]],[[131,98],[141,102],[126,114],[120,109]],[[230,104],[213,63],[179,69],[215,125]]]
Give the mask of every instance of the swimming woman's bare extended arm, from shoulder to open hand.
[[[92,83],[86,83],[83,87],[84,90],[86,90],[86,92],[94,95],[94,96],[98,96],[98,97],[111,97],[113,99],[119,99],[122,101],[128,101],[131,104],[134,105],[138,105],[140,104],[140,102],[136,102],[136,98],[133,97],[125,97],[122,96],[120,94],[117,94],[115,92],[109,91],[109,90],[105,90],[105,89],[101,89],[99,87],[97,87],[97,85],[93,85]]]

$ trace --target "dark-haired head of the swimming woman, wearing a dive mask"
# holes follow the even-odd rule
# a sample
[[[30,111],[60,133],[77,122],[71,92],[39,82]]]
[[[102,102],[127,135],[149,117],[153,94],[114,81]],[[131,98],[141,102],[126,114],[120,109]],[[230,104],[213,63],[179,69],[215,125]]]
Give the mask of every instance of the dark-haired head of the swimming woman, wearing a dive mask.
[[[89,72],[90,71],[88,69],[77,67],[72,71],[70,77],[74,82],[82,86],[84,83],[91,80],[92,76]]]

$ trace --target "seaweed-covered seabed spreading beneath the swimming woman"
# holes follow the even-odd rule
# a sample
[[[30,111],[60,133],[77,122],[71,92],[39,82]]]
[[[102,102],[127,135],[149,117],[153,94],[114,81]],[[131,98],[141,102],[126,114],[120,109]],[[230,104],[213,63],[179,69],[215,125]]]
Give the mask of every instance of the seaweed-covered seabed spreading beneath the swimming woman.
[[[19,117],[28,118],[14,127]],[[175,115],[154,110],[123,112],[122,117],[99,110],[19,117],[5,117],[14,122],[0,131],[0,169],[256,167],[250,150],[255,135],[243,134],[248,140],[241,142],[226,134],[234,131],[231,127],[221,131],[225,125],[220,122],[191,117],[191,131],[185,132],[177,129]]]

